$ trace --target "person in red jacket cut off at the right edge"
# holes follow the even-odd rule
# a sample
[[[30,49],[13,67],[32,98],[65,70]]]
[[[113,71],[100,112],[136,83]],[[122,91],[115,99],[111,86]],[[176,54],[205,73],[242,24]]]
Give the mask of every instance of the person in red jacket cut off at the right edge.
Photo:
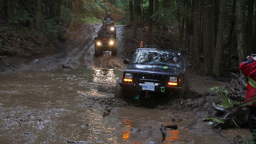
[[[248,77],[249,81],[246,86],[246,103],[254,101],[249,105],[249,128],[252,136],[256,136],[256,56],[247,56],[246,60],[239,66],[244,76]],[[254,133],[254,134],[253,134]]]

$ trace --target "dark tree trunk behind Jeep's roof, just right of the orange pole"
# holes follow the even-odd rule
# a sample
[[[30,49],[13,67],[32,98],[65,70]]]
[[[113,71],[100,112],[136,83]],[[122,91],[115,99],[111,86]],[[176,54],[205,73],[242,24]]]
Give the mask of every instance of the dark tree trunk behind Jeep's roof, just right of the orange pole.
[[[148,38],[147,38],[147,45],[152,44],[152,29],[153,29],[153,20],[151,16],[153,15],[154,10],[154,0],[149,0],[148,5]]]

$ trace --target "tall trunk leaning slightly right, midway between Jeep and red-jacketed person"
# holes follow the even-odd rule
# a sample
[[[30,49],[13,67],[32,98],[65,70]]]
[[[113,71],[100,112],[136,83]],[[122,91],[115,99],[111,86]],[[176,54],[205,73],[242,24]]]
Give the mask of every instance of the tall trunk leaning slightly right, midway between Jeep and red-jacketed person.
[[[216,40],[216,54],[214,57],[214,64],[212,68],[212,73],[214,76],[220,77],[220,59],[222,55],[222,43],[223,43],[223,12],[224,11],[224,0],[220,0],[220,12],[218,20],[218,32]]]

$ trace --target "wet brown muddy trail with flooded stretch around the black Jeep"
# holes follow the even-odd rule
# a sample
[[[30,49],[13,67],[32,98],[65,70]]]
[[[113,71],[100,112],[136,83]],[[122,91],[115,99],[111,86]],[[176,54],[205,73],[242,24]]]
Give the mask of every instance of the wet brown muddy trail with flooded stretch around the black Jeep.
[[[211,77],[191,73],[186,100],[114,98],[127,58],[126,28],[117,26],[116,56],[94,57],[99,28],[70,31],[64,51],[0,74],[0,143],[226,144],[250,137],[248,129],[216,131],[202,122],[216,114],[211,104],[220,100],[208,89],[226,84]],[[162,124],[178,125],[164,141]]]

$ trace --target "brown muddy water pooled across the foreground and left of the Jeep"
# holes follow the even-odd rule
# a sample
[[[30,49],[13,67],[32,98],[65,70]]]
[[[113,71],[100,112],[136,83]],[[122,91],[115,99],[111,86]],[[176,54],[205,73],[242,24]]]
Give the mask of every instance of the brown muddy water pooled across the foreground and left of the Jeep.
[[[96,87],[114,85],[121,74],[115,69],[90,68],[2,74],[0,143],[157,144],[162,143],[161,124],[179,126],[178,130],[166,130],[166,144],[226,143],[225,138],[188,130],[192,112],[130,106],[112,108],[103,117],[103,105],[91,97],[112,97]],[[233,136],[244,132],[238,129],[227,133]]]

